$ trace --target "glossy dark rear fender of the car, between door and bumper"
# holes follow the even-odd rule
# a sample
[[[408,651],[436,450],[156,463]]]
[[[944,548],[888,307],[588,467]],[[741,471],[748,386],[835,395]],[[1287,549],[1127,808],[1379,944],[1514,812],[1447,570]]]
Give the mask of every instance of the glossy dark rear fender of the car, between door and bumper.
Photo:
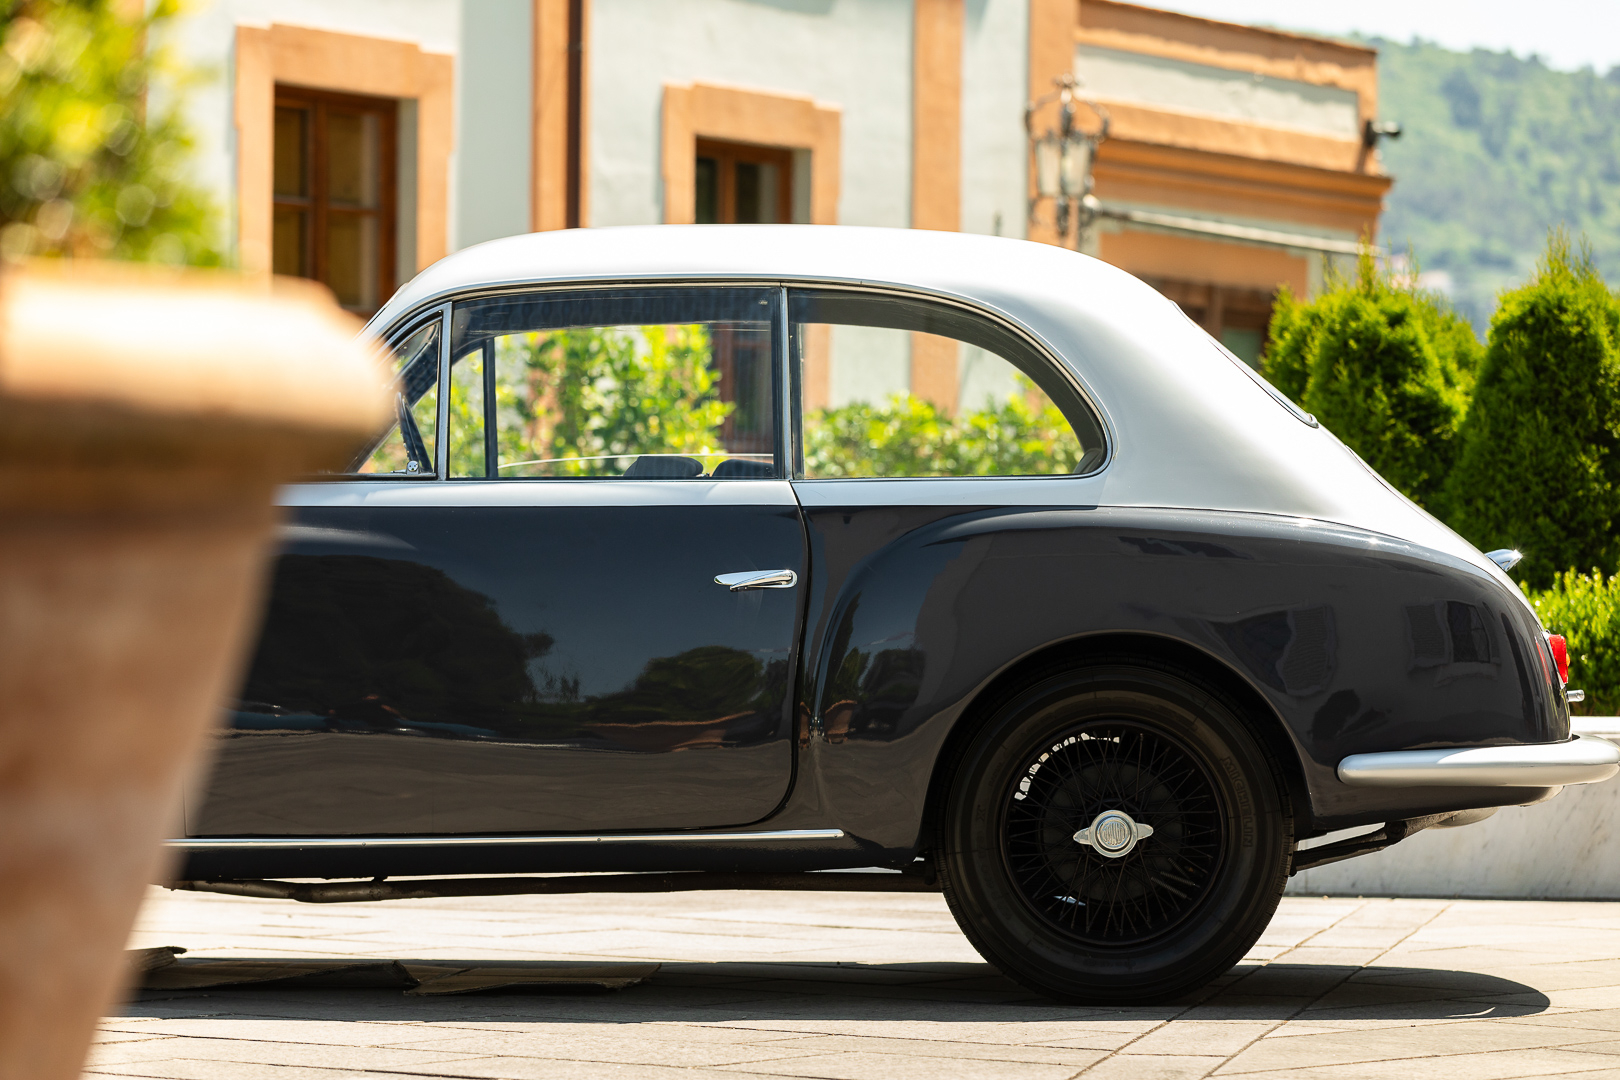
[[[943,746],[996,672],[1097,633],[1191,648],[1243,672],[1299,746],[1327,821],[1377,821],[1414,798],[1338,784],[1346,755],[1567,737],[1550,699],[1518,708],[1526,683],[1513,672],[1437,685],[1432,670],[1411,670],[1400,601],[1430,589],[1435,570],[1429,552],[1390,538],[1129,507],[849,505],[805,517],[821,567],[808,597],[805,750],[838,819],[860,836],[897,840],[894,821],[915,827],[909,806],[933,761],[922,746]],[[1495,610],[1484,575],[1447,580],[1458,602]],[[885,677],[891,664],[902,678]],[[880,751],[901,742],[901,759]]]

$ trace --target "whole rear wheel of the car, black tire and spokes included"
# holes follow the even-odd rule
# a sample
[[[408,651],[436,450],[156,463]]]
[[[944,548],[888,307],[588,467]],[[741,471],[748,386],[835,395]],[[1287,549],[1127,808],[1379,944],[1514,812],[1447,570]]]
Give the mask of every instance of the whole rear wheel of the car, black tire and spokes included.
[[[933,855],[957,925],[1059,1001],[1204,986],[1243,959],[1288,881],[1293,814],[1275,761],[1234,701],[1170,667],[1025,683],[990,711],[946,790]]]

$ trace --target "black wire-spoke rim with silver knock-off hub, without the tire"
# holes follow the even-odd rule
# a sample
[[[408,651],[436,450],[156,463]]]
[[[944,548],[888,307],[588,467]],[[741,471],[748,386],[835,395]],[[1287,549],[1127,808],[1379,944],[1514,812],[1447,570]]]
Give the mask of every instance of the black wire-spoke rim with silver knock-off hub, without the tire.
[[[1022,769],[1006,800],[1003,855],[1053,928],[1092,946],[1126,944],[1197,908],[1221,861],[1223,827],[1215,780],[1187,746],[1098,721]],[[1085,831],[1098,836],[1076,840]]]

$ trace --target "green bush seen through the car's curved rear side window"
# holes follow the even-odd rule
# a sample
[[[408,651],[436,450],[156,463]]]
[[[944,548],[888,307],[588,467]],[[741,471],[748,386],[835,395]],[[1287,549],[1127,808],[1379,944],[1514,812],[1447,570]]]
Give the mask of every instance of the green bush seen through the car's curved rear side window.
[[[1027,379],[1000,405],[951,418],[896,393],[805,418],[805,476],[1017,476],[1072,473],[1081,440]]]

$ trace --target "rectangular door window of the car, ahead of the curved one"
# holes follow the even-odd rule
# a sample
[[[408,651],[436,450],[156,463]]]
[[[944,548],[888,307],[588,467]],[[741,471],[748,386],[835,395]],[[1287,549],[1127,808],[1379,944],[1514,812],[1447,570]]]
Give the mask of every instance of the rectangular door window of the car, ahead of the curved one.
[[[778,476],[779,296],[638,288],[455,304],[450,476]]]

